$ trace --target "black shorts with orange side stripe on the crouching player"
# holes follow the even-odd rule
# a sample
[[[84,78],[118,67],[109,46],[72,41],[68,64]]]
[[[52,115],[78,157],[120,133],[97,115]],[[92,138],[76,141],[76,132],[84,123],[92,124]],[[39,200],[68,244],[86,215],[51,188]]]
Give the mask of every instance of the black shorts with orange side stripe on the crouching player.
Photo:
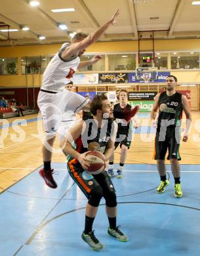
[[[91,175],[89,172],[83,169],[79,161],[73,158],[68,161],[68,172],[73,181],[75,181],[88,199],[90,198],[92,189],[94,189],[96,186],[101,186],[104,192],[107,190],[115,192],[115,188],[110,177],[108,176],[107,171],[103,171],[97,175]]]

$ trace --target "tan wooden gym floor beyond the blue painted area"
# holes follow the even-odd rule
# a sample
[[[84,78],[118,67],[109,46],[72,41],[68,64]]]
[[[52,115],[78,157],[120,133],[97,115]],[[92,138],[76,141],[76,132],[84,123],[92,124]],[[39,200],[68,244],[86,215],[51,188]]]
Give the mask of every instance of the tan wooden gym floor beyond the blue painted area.
[[[140,127],[135,129],[132,144],[127,154],[127,163],[155,164],[152,160],[154,134],[149,114],[138,114]],[[192,114],[188,142],[180,146],[181,164],[200,164],[200,114]],[[0,192],[9,188],[43,164],[41,156],[42,121],[37,114],[26,117],[1,119],[0,124]],[[183,121],[184,127],[184,121]],[[199,128],[198,128],[199,127]],[[147,133],[148,131],[148,133]],[[183,132],[182,132],[183,133]],[[66,158],[59,150],[56,139],[52,162],[64,163]],[[115,163],[119,163],[119,148],[115,151]],[[167,163],[169,163],[167,161]]]

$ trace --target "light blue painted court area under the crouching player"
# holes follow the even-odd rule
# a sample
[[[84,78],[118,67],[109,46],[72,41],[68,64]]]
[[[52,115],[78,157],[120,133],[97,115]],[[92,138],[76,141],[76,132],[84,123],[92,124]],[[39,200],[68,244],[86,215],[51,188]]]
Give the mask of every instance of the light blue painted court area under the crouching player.
[[[117,191],[117,224],[129,236],[108,236],[104,200],[94,221],[105,244],[93,251],[81,239],[87,200],[66,171],[54,163],[58,188],[45,186],[38,170],[0,194],[1,255],[200,255],[199,165],[181,165],[182,198],[174,198],[172,173],[164,194],[157,194],[155,165],[125,165],[124,179],[113,178]],[[115,165],[115,167],[117,167]]]

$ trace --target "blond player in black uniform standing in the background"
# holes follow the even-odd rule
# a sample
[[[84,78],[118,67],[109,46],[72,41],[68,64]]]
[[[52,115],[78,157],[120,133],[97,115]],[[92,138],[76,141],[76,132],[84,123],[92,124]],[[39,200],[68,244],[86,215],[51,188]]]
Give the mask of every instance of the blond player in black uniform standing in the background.
[[[114,105],[113,116],[119,116],[121,114],[121,118],[116,118],[115,121],[118,124],[117,130],[117,139],[115,141],[115,149],[120,144],[121,148],[121,156],[120,156],[120,163],[117,169],[117,178],[123,178],[123,166],[125,164],[125,160],[127,157],[127,150],[130,148],[131,140],[132,140],[132,125],[135,121],[133,120],[134,117],[126,119],[126,112],[130,111],[132,106],[128,104],[128,92],[125,89],[121,89],[119,92],[119,103]],[[138,111],[138,106],[135,108],[135,114]],[[135,125],[135,128],[138,126]],[[113,161],[114,161],[114,154],[112,154],[109,160],[109,167],[108,167],[108,175],[113,177]]]

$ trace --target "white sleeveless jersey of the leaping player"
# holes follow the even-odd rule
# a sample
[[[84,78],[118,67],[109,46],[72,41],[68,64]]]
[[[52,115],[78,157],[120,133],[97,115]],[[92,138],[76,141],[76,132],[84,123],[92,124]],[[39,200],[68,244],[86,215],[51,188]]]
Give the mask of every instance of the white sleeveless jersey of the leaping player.
[[[66,49],[70,43],[62,45],[63,49]],[[77,70],[77,67],[80,63],[79,56],[74,56],[69,60],[62,60],[59,53],[50,60],[44,74],[43,74],[43,83],[41,89],[47,91],[58,92],[64,89],[67,79],[70,79],[73,76],[73,73]]]

